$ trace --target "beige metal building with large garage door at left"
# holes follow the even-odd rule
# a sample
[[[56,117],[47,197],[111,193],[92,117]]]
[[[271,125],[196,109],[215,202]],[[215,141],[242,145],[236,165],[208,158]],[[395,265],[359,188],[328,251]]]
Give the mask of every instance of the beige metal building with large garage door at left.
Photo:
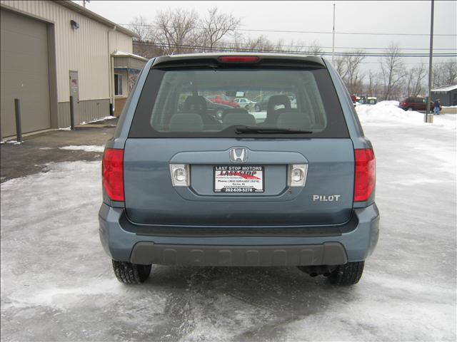
[[[70,95],[76,124],[119,113],[146,62],[134,33],[71,1],[0,0],[0,14],[2,137],[16,134],[14,98],[23,133],[68,127]]]

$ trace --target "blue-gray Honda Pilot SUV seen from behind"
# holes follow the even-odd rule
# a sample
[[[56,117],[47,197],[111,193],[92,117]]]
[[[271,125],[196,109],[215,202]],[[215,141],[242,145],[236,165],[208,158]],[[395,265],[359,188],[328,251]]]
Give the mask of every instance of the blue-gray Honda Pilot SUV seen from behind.
[[[268,105],[214,115],[220,94]],[[162,264],[298,266],[351,285],[378,241],[373,148],[322,58],[151,59],[102,168],[99,233],[124,283]]]

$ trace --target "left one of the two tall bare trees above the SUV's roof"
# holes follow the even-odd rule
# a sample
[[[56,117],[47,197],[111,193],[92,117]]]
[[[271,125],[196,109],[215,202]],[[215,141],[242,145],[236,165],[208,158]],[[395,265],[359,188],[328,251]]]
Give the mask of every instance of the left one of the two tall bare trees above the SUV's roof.
[[[194,51],[196,26],[199,16],[196,11],[168,9],[159,11],[154,19],[153,41],[164,48],[164,53],[184,53]]]

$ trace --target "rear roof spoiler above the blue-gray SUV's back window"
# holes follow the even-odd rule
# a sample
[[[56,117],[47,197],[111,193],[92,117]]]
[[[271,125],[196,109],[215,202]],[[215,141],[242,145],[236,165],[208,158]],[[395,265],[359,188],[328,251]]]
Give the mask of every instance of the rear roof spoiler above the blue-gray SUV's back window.
[[[183,64],[218,64],[222,65],[218,58],[221,56],[256,56],[258,62],[255,63],[231,63],[231,64],[288,64],[300,66],[326,67],[323,59],[317,56],[298,55],[293,53],[189,53],[182,55],[160,56],[154,61],[152,68],[158,66],[183,66]]]

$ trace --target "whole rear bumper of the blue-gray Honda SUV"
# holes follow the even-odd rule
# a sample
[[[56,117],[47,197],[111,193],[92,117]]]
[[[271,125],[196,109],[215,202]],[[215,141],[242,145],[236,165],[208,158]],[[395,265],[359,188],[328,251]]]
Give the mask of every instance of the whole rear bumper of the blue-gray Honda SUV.
[[[349,223],[298,229],[258,227],[251,234],[229,227],[189,227],[189,233],[184,233],[185,227],[151,227],[148,232],[150,226],[129,222],[124,208],[102,204],[99,211],[99,234],[106,253],[134,264],[311,266],[365,260],[378,242],[376,204],[353,209]]]

